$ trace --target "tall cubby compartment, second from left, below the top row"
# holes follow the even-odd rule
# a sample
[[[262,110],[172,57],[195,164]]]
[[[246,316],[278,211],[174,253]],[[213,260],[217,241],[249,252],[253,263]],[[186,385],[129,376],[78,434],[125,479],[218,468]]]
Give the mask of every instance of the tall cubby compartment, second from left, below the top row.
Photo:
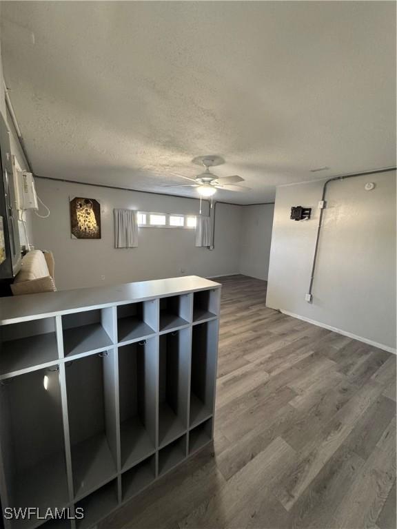
[[[114,351],[66,363],[66,390],[74,496],[79,498],[116,474]]]

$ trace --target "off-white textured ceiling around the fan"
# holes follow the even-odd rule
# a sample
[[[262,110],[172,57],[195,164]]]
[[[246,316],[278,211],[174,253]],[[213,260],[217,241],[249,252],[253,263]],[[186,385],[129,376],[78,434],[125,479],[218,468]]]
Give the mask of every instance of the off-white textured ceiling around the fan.
[[[276,185],[395,164],[395,10],[3,1],[3,70],[36,174],[196,196],[163,186],[221,154],[214,172],[252,191],[217,200],[267,202]]]

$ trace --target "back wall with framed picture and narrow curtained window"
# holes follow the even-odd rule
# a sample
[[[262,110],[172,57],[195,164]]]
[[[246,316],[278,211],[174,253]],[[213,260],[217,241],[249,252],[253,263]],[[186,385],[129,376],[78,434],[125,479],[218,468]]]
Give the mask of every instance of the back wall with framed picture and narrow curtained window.
[[[194,246],[194,230],[170,228],[140,228],[138,248],[114,249],[115,207],[196,215],[199,200],[41,178],[36,179],[36,185],[51,215],[47,219],[33,216],[34,243],[37,248],[54,252],[58,289],[191,274],[210,277],[239,271],[241,206],[216,206],[216,245],[212,251]],[[101,203],[100,240],[70,238],[69,198],[75,196],[96,198]]]

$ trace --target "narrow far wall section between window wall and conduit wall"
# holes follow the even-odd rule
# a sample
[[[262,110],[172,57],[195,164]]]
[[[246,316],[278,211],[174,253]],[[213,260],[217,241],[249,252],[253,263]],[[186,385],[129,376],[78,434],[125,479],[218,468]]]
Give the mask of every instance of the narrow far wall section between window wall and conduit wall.
[[[244,206],[240,271],[245,276],[267,281],[274,205]]]

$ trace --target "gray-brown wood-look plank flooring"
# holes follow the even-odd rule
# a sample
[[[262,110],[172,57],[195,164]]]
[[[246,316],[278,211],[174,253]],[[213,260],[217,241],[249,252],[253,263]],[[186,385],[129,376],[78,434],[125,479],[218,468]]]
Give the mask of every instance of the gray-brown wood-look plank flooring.
[[[101,528],[395,529],[396,356],[220,282],[214,447]]]

